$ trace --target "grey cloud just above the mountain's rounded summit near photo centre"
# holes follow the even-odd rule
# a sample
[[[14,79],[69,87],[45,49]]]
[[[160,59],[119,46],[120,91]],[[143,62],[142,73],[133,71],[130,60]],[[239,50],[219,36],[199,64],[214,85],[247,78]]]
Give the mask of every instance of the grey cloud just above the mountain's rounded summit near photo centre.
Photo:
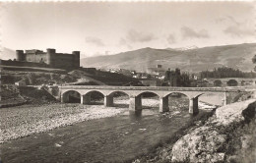
[[[153,33],[139,32],[130,29],[126,35],[126,39],[131,42],[149,42],[157,37]]]

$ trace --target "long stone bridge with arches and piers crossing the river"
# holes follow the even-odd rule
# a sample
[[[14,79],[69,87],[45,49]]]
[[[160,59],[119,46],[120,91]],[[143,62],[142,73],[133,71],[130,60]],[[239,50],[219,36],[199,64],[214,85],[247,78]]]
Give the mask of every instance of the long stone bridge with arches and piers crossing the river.
[[[142,94],[153,92],[160,97],[160,112],[169,111],[168,95],[171,93],[182,93],[189,98],[189,113],[196,114],[198,110],[198,97],[205,93],[223,93],[224,105],[226,104],[226,92],[248,91],[243,87],[169,87],[169,86],[102,86],[102,85],[64,85],[59,86],[61,102],[69,101],[70,92],[78,92],[82,104],[90,104],[91,92],[97,91],[104,96],[104,105],[113,105],[113,94],[115,92],[126,93],[130,98],[129,109],[132,111],[142,110]]]

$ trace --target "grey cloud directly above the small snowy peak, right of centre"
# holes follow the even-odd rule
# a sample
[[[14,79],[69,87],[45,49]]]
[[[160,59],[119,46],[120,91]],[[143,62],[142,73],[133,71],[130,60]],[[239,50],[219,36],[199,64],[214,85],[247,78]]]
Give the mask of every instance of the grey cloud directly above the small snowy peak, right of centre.
[[[183,38],[208,38],[210,37],[206,29],[199,31],[194,30],[190,27],[181,27],[181,34]]]

